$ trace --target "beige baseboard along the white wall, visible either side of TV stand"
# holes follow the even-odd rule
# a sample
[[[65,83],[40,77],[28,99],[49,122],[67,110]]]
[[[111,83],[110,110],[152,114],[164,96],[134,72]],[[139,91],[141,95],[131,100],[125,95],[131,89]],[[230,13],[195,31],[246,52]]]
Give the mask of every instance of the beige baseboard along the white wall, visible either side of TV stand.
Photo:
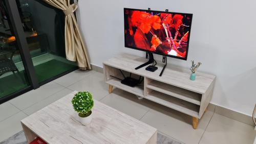
[[[99,73],[103,73],[103,67],[92,64],[92,69],[95,71],[98,71]],[[208,105],[207,110],[226,116],[228,118],[234,119],[236,121],[245,123],[247,125],[250,125],[253,127],[255,126],[253,123],[252,117],[246,114],[239,113],[237,111],[233,111],[231,109],[227,109],[211,103]]]

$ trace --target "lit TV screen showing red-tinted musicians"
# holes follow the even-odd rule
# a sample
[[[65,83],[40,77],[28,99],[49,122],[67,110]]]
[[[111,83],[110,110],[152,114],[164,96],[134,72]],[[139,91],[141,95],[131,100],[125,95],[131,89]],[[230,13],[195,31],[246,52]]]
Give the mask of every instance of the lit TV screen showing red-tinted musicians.
[[[192,16],[124,8],[125,47],[186,60]]]

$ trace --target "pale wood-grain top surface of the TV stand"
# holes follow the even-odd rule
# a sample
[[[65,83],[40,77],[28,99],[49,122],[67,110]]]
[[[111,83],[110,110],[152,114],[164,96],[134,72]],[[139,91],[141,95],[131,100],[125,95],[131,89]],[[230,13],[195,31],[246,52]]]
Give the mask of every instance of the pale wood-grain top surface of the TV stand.
[[[122,54],[103,62],[103,64],[201,94],[206,92],[212,81],[215,79],[215,76],[213,75],[197,73],[197,79],[191,81],[189,80],[189,68],[181,68],[170,64],[165,68],[162,77],[159,77],[163,67],[162,62],[158,62],[158,69],[154,73],[145,70],[145,68],[134,69],[146,61],[147,59],[145,58],[130,54]]]

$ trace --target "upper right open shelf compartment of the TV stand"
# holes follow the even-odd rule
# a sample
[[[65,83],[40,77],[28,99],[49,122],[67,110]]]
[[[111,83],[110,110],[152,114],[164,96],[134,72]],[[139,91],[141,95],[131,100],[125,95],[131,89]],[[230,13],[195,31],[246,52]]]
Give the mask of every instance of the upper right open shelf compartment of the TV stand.
[[[150,80],[150,82],[146,86],[149,89],[153,89],[168,95],[172,95],[178,99],[201,105],[202,94],[196,93],[193,91],[189,91],[180,87],[176,87],[173,85],[169,85],[166,83],[162,83],[156,80]]]

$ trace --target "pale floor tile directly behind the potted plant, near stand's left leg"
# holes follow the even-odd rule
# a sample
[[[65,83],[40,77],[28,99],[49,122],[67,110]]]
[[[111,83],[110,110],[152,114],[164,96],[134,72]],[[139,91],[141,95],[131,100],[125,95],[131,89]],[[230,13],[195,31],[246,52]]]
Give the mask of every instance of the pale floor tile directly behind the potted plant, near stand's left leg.
[[[90,91],[96,100],[101,100],[105,95],[109,94],[109,86],[103,82],[103,74],[97,71],[68,88],[77,91]]]

